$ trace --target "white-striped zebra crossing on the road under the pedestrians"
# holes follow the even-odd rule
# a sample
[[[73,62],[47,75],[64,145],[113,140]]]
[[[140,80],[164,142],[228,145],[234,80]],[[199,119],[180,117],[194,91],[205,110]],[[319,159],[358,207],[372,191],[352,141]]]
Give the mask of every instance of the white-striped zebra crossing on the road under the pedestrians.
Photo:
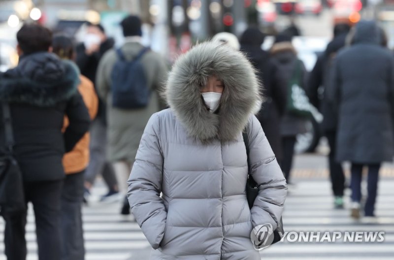
[[[283,223],[285,231],[385,231],[382,243],[318,243],[287,240],[261,251],[263,260],[392,260],[394,259],[394,178],[382,178],[376,205],[377,223],[365,224],[349,218],[350,201],[345,209],[333,209],[327,179],[295,178],[286,200]],[[365,188],[365,187],[364,187]],[[104,188],[96,188],[89,206],[83,208],[86,260],[147,260],[150,246],[132,217],[119,214],[120,205],[98,202]],[[349,195],[350,191],[346,192]],[[94,196],[96,195],[96,197]],[[26,239],[27,260],[37,260],[33,211],[29,210]],[[4,224],[0,220],[0,232]],[[0,260],[5,260],[0,237]]]

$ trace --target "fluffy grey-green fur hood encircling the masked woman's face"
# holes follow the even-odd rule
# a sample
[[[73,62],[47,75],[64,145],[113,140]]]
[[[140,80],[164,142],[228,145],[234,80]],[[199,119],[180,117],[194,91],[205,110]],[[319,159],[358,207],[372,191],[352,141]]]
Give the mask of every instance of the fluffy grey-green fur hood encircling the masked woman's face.
[[[217,113],[210,113],[200,86],[216,75],[225,88]],[[176,118],[202,142],[230,141],[245,128],[261,102],[260,83],[246,57],[225,44],[204,42],[179,57],[166,84],[165,97]]]

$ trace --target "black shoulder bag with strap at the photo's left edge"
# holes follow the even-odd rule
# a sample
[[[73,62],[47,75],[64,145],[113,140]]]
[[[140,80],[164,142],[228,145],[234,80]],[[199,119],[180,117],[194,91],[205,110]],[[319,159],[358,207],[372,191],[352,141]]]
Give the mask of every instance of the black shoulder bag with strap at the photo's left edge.
[[[22,172],[13,156],[14,135],[11,113],[7,103],[1,103],[3,112],[4,144],[0,150],[0,215],[7,216],[26,209]]]

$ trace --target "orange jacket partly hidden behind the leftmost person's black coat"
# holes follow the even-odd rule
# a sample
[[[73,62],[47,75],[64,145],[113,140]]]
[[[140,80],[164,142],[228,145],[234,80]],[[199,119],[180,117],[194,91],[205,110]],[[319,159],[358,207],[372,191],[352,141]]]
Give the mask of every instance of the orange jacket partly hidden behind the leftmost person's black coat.
[[[93,120],[96,117],[99,99],[96,95],[95,88],[92,81],[85,76],[80,76],[81,84],[78,86],[78,91],[81,94],[86,107],[88,108],[90,118]],[[68,118],[65,117],[63,128],[68,126]],[[66,174],[72,174],[83,171],[89,163],[89,133],[86,133],[81,140],[75,145],[71,152],[68,152],[63,157],[63,166]]]

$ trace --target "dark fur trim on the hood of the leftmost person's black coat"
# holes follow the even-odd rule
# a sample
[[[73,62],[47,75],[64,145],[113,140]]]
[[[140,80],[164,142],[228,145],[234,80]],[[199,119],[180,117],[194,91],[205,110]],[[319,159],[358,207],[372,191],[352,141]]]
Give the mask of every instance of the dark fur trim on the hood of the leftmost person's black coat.
[[[77,91],[79,69],[69,61],[60,61],[64,74],[57,81],[41,82],[12,70],[0,74],[0,100],[10,103],[26,103],[40,107],[54,106],[66,101]]]

